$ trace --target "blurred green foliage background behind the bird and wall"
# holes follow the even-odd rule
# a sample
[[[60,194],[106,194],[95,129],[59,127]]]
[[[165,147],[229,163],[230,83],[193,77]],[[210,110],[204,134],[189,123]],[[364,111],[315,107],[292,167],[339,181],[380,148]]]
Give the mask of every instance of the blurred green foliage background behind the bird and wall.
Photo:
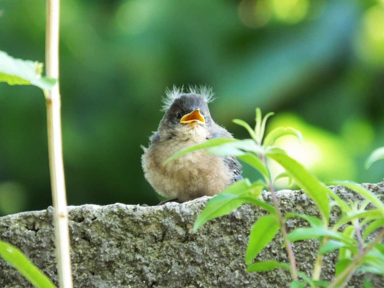
[[[159,202],[140,145],[174,84],[212,87],[240,139],[232,119],[275,112],[268,129],[300,130],[280,144],[322,180],[384,177],[384,161],[363,168],[384,146],[382,0],[65,0],[60,33],[69,205]],[[44,45],[45,1],[1,0],[0,50],[44,62]],[[0,215],[49,205],[43,93],[0,83]]]

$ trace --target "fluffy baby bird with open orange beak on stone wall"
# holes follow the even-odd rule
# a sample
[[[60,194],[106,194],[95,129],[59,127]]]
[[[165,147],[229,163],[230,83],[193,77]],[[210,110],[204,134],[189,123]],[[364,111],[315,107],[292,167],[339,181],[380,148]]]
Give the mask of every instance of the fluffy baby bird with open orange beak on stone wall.
[[[184,154],[163,165],[170,156],[194,144],[217,137],[233,139],[210,116],[208,103],[214,99],[212,88],[190,86],[186,92],[176,86],[166,90],[164,117],[149,137],[149,147],[142,146],[141,157],[149,184],[160,195],[174,198],[169,201],[178,203],[214,196],[243,179],[242,166],[236,157],[207,154],[205,150]]]

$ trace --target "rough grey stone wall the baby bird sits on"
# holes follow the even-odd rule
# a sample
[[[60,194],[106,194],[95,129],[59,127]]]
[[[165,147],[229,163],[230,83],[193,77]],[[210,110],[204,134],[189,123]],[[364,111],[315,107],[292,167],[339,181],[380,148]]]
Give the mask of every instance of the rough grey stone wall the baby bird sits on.
[[[384,182],[365,184],[384,194]],[[343,198],[361,199],[354,192],[335,187]],[[302,191],[277,192],[283,214],[319,215]],[[270,193],[262,198],[271,202]],[[290,275],[284,270],[247,273],[244,254],[255,219],[265,211],[243,205],[231,214],[211,220],[196,233],[193,223],[208,197],[183,204],[140,207],[114,204],[69,207],[74,287],[288,287]],[[331,211],[331,222],[338,210]],[[288,230],[307,226],[292,218]],[[20,248],[55,283],[57,271],[52,208],[0,218],[0,238]],[[258,255],[257,260],[288,262],[280,232]],[[293,243],[298,268],[311,274],[318,242]],[[324,260],[322,278],[331,280],[337,254]],[[362,287],[364,277],[354,276],[350,288]],[[372,276],[375,287],[383,287],[383,277]],[[8,263],[0,259],[0,287],[31,287]]]

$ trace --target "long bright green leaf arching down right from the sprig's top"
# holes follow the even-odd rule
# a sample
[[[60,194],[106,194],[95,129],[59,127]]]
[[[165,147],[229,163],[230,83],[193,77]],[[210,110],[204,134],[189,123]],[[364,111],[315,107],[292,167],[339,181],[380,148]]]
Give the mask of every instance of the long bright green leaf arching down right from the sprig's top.
[[[297,185],[313,200],[323,217],[324,227],[329,221],[329,188],[303,165],[283,153],[268,153],[267,157],[280,164]]]

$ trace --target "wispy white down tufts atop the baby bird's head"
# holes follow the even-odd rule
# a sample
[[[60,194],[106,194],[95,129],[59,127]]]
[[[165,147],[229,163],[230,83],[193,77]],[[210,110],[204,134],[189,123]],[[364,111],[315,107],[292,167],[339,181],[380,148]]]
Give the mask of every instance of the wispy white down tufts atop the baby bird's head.
[[[206,86],[189,86],[187,88],[187,93],[199,94],[204,98],[205,103],[209,103],[214,101],[214,93],[212,92],[212,88]],[[176,87],[173,86],[173,89],[167,88],[166,97],[163,98],[163,106],[161,111],[167,111],[175,99],[180,98],[180,96],[184,93],[184,86]]]

